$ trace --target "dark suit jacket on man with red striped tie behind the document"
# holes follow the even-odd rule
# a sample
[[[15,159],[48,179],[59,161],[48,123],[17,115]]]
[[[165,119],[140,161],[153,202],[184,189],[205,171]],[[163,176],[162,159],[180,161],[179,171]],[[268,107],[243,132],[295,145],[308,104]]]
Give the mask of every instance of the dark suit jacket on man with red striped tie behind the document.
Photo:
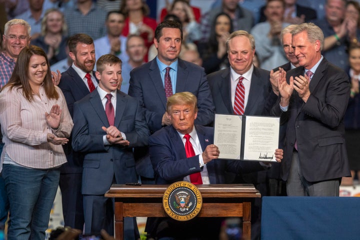
[[[269,115],[277,96],[271,89],[270,72],[254,67],[251,75],[250,91],[244,110],[245,115]],[[207,75],[216,113],[234,114],[231,103],[230,68],[225,68]],[[275,149],[274,149],[275,150]],[[276,164],[276,163],[275,163]],[[248,183],[265,182],[266,172],[242,174]],[[232,182],[234,176],[228,174],[227,180]]]

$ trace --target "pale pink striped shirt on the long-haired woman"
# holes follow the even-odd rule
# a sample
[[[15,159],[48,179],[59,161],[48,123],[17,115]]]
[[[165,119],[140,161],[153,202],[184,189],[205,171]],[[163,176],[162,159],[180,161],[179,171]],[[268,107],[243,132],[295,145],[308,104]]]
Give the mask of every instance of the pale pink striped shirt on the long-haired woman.
[[[5,143],[0,162],[0,171],[5,153],[15,163],[31,168],[53,168],[66,162],[62,145],[47,142],[47,133],[57,137],[69,137],[73,126],[65,98],[57,86],[59,98],[48,99],[43,87],[39,89],[41,98],[33,95],[28,101],[19,88],[6,87],[0,92],[0,123]],[[51,128],[45,119],[52,105],[58,104],[62,110],[57,129]]]

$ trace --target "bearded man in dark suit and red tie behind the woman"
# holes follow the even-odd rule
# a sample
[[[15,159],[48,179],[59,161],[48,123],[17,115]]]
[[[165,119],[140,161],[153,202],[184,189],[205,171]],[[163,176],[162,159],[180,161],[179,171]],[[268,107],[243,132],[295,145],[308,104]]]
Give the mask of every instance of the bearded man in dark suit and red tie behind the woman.
[[[67,108],[73,116],[73,103],[89,94],[97,86],[93,71],[95,49],[89,35],[79,33],[68,39],[69,57],[72,64],[62,72],[59,87],[65,96]],[[71,148],[71,138],[65,144],[67,162],[61,166],[60,182],[62,213],[64,224],[72,228],[83,228],[83,206],[81,195],[81,175],[83,156]]]

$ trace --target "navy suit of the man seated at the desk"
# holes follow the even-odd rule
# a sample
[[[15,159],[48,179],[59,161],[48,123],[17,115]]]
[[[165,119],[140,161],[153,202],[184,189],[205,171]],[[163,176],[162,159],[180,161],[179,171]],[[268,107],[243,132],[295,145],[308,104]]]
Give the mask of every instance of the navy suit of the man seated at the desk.
[[[213,128],[195,125],[195,129],[201,148],[205,150],[207,145],[213,143]],[[199,167],[198,155],[186,157],[182,139],[172,125],[156,131],[149,137],[149,149],[156,184],[180,181],[186,175],[202,170]],[[241,174],[265,169],[258,162],[226,159],[213,159],[206,164],[206,168],[211,184],[225,183],[226,171]],[[158,237],[172,236],[175,239],[188,239],[188,237],[190,239],[218,239],[219,220],[221,219],[195,218],[188,222],[180,222],[168,218],[150,218],[146,231]],[[166,224],[163,224],[164,221]]]

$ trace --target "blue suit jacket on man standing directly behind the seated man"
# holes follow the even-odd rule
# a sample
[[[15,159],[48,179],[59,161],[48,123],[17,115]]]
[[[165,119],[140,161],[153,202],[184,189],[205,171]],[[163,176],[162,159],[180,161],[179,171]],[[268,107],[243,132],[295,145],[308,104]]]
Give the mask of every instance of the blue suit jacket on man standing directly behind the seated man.
[[[202,67],[178,59],[175,91],[189,91],[197,97],[196,124],[208,125],[213,121],[214,106]],[[160,129],[166,110],[166,96],[156,58],[130,72],[128,94],[139,100],[150,131]]]

